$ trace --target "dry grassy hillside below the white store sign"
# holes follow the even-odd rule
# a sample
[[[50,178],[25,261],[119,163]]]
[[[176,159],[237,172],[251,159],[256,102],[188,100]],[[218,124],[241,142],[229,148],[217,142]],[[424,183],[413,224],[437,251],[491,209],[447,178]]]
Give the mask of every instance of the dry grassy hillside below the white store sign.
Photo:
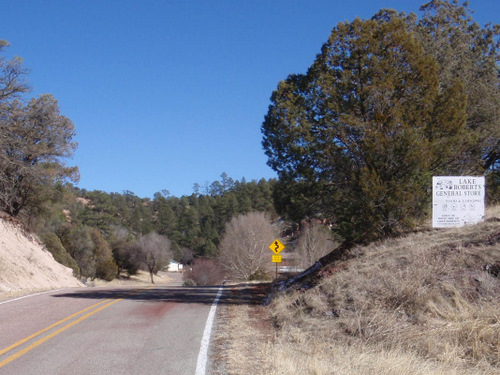
[[[353,250],[272,303],[266,374],[500,374],[500,209]]]

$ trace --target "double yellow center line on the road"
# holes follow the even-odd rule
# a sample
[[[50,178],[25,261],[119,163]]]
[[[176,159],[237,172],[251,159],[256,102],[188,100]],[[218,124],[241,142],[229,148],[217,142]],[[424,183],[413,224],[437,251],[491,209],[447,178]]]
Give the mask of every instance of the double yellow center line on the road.
[[[152,288],[152,287],[150,287],[150,288]],[[146,289],[150,289],[150,288],[145,288],[145,289],[137,290],[134,293],[129,294],[129,296],[136,295],[136,294],[138,294],[138,293],[140,293],[140,292],[142,292],[142,291],[144,291]],[[113,305],[113,304],[115,304],[115,303],[123,300],[123,298],[124,297],[117,298],[117,299],[108,298],[108,299],[106,299],[104,301],[95,303],[92,306],[89,306],[89,307],[87,307],[87,308],[85,308],[83,310],[77,311],[76,313],[71,314],[71,315],[69,315],[68,317],[66,317],[64,319],[61,319],[58,322],[55,322],[54,324],[51,324],[50,326],[45,327],[44,329],[42,329],[42,330],[40,330],[40,331],[38,331],[36,333],[33,333],[32,335],[27,336],[24,339],[21,339],[18,342],[14,343],[14,344],[6,347],[6,348],[1,349],[0,350],[0,356],[3,355],[3,354],[5,354],[5,353],[7,353],[7,352],[9,352],[9,351],[11,351],[11,350],[14,350],[15,348],[17,348],[17,347],[19,347],[19,346],[27,343],[28,341],[30,341],[30,340],[32,340],[32,339],[34,339],[34,338],[36,338],[36,337],[38,337],[40,335],[42,335],[42,334],[50,331],[51,329],[56,328],[56,327],[58,327],[58,326],[60,326],[60,325],[62,325],[64,323],[70,321],[71,319],[74,319],[77,316],[86,313],[86,314],[80,316],[78,319],[75,319],[75,320],[71,321],[70,323],[66,324],[65,326],[63,326],[63,327],[55,330],[54,332],[48,334],[47,336],[44,336],[44,337],[40,338],[39,340],[33,342],[32,344],[30,344],[26,348],[24,348],[24,349],[16,352],[15,354],[12,354],[10,357],[7,357],[6,359],[4,359],[3,361],[0,362],[0,368],[2,368],[6,364],[14,361],[15,359],[23,356],[24,354],[28,353],[30,350],[36,348],[37,346],[43,344],[44,342],[50,340],[52,337],[57,336],[61,332],[64,332],[68,328],[73,327],[74,325],[76,325],[76,324],[84,321],[85,319],[90,318],[92,315],[98,313],[99,311],[104,310],[105,308],[107,308],[107,307],[109,307],[109,306],[111,306],[111,305]],[[95,309],[95,310],[93,310],[93,309]],[[92,310],[92,311],[88,312],[89,310]]]

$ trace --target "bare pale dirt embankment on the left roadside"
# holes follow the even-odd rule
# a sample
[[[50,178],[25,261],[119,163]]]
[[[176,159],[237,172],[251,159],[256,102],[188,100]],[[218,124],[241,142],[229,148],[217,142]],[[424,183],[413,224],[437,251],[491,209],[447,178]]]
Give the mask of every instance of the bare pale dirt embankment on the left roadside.
[[[0,218],[0,299],[35,291],[83,286],[22,226]]]

